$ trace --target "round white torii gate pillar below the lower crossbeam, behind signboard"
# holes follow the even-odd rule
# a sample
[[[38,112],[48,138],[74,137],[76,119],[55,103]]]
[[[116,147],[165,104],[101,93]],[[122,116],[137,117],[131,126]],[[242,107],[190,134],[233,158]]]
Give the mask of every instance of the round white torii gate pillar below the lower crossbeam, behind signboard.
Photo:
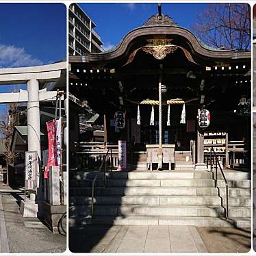
[[[27,148],[28,151],[37,151],[38,153],[38,173],[36,175],[36,188],[38,197],[40,197],[40,109],[39,109],[39,82],[36,79],[31,79],[27,82]],[[39,198],[37,198],[39,199]]]

